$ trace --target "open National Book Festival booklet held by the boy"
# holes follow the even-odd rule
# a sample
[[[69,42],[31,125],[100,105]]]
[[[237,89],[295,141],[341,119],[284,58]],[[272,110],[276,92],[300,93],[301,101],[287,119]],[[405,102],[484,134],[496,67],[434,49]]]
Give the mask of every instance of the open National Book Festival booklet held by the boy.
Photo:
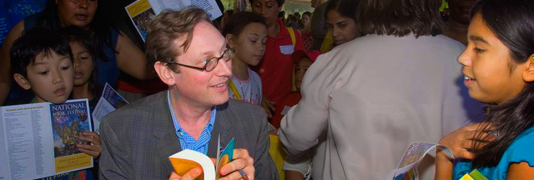
[[[0,179],[39,179],[93,167],[76,144],[92,131],[87,99],[0,107]]]

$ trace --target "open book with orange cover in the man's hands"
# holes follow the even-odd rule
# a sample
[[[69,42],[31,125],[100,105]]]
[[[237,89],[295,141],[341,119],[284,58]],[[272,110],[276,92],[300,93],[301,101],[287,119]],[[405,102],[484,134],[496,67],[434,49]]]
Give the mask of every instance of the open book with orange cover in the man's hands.
[[[189,170],[196,167],[201,167],[203,175],[197,179],[213,180],[220,178],[220,168],[228,164],[234,158],[235,140],[232,139],[222,152],[217,152],[216,166],[214,166],[212,159],[209,159],[203,153],[198,153],[194,150],[182,150],[169,157],[172,167],[176,174],[183,176]],[[220,139],[217,146],[220,149]]]

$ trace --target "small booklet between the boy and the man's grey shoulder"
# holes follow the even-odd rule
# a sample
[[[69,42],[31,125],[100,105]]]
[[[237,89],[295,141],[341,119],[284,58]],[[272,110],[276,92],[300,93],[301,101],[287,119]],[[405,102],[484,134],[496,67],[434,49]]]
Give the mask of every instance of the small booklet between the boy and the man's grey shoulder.
[[[92,114],[94,132],[100,132],[100,122],[105,115],[115,111],[115,109],[125,106],[126,104],[130,103],[106,82],[104,90],[102,91],[102,96],[100,97],[99,102],[96,103],[96,106],[94,106]]]

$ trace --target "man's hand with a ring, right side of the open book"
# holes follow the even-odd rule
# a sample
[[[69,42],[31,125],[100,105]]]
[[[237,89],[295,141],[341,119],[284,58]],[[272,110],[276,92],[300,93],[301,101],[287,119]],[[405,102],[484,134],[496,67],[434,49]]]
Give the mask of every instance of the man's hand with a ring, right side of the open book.
[[[249,151],[243,148],[234,149],[234,160],[220,169],[220,180],[243,179],[239,170],[247,173],[248,179],[254,179],[254,159],[249,156]]]

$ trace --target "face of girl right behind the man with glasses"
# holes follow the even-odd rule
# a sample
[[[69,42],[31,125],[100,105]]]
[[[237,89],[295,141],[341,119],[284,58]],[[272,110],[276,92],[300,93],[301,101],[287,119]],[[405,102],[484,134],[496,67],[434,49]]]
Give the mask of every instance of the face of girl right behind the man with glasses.
[[[235,56],[248,65],[258,65],[263,58],[263,53],[265,53],[266,41],[267,27],[260,23],[250,23],[243,28],[243,32],[237,37],[234,45]]]

